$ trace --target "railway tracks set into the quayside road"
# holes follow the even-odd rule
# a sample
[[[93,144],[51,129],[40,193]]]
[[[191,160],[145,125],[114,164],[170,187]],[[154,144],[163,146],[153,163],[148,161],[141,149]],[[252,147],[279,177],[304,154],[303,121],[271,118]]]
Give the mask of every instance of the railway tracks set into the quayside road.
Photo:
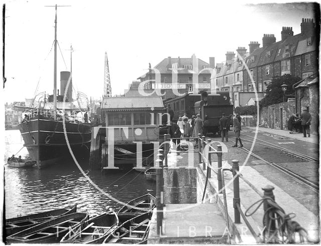
[[[244,136],[244,134],[242,134],[242,136]],[[250,137],[251,137],[251,136],[250,136]],[[234,137],[234,138],[235,138],[235,137]],[[212,138],[212,139],[213,139],[213,138]],[[245,140],[245,139],[244,139],[244,140]],[[257,140],[258,140],[258,139],[257,139]],[[232,140],[231,140],[231,141],[232,141]],[[249,140],[247,140],[247,141],[249,141]],[[264,141],[264,140],[261,140],[261,141]],[[232,141],[232,142],[235,143],[235,141]],[[253,141],[252,141],[252,142],[253,142]],[[266,142],[266,141],[264,141],[264,142]],[[256,142],[256,143],[258,143],[258,142]],[[225,143],[225,144],[226,144],[226,145],[229,145],[229,146],[232,146],[232,144],[230,144],[230,143]],[[261,144],[261,143],[258,143],[258,144]],[[271,145],[267,145],[267,144],[263,144],[263,145],[266,145],[266,146],[268,146],[268,147],[276,148],[275,146],[271,146]],[[272,145],[273,145],[273,144],[272,144]],[[276,146],[277,146],[277,145],[276,145]],[[293,152],[293,151],[291,151],[291,150],[288,150],[288,149],[285,149],[285,148],[283,148],[283,147],[279,147],[279,146],[277,146],[277,147],[278,147],[277,149],[281,149],[281,148],[282,148],[283,151],[286,150],[286,151],[288,151],[289,153],[294,153],[294,154],[296,154],[295,152]],[[253,156],[254,158],[257,158],[257,159],[265,162],[266,164],[268,164],[268,165],[276,168],[277,170],[283,172],[284,174],[290,176],[290,177],[293,178],[294,180],[298,181],[298,182],[301,183],[301,184],[304,184],[304,185],[307,186],[309,189],[311,189],[311,190],[313,190],[314,192],[318,193],[318,191],[319,191],[318,184],[315,184],[314,182],[311,182],[310,180],[308,180],[308,179],[306,179],[306,178],[304,178],[304,177],[296,174],[295,172],[293,172],[293,171],[291,171],[291,170],[289,170],[289,169],[287,169],[287,168],[282,167],[281,165],[279,165],[279,164],[277,164],[277,163],[275,163],[275,162],[268,161],[268,160],[266,160],[265,158],[263,158],[263,157],[261,157],[261,156],[259,156],[259,155],[257,155],[257,154],[254,154],[253,152],[251,152],[250,150],[246,149],[245,147],[238,148],[238,149],[240,149],[241,151],[243,151],[243,152],[245,152],[245,153],[247,153],[247,154],[250,154],[250,155]],[[307,157],[309,157],[309,156],[305,156],[305,155],[302,155],[302,156],[304,156],[304,158],[306,158],[306,159],[307,159]],[[312,157],[311,157],[310,159],[313,160],[313,161],[315,161],[315,159],[312,158]]]

